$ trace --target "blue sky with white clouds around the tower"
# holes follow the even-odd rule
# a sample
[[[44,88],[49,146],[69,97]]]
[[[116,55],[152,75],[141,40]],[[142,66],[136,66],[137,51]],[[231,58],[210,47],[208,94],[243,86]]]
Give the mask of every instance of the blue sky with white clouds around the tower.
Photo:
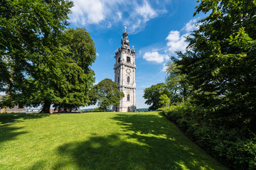
[[[184,36],[195,30],[196,0],[73,0],[70,27],[84,27],[95,42],[92,65],[96,84],[114,79],[114,51],[127,26],[130,46],[136,50],[137,108],[148,108],[143,91],[165,81],[165,64],[174,51],[184,51]],[[92,108],[88,107],[88,108]]]

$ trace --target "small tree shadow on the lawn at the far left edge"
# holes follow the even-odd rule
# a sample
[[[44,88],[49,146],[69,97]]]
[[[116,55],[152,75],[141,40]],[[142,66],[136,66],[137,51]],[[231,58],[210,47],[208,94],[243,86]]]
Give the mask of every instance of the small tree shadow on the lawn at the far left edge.
[[[16,136],[26,133],[21,132],[22,127],[15,127],[13,123],[19,123],[26,119],[44,118],[49,114],[26,113],[1,113],[0,114],[0,142],[14,140]]]

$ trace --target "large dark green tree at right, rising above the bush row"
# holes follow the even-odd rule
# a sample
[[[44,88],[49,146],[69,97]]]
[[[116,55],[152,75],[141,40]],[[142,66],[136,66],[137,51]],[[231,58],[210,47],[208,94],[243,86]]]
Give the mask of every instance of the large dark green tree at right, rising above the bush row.
[[[188,38],[188,51],[176,60],[193,86],[193,99],[228,125],[256,131],[256,4],[252,0],[199,1],[208,16]]]

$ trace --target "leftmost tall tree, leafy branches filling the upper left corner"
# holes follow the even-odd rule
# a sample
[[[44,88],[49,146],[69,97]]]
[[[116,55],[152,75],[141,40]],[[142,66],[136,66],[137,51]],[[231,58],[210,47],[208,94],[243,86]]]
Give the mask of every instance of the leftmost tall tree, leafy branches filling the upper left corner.
[[[28,80],[40,74],[39,63],[53,66],[50,54],[59,47],[72,6],[68,0],[0,2],[0,90],[6,93],[1,107],[14,106],[17,102],[11,99],[30,91]]]

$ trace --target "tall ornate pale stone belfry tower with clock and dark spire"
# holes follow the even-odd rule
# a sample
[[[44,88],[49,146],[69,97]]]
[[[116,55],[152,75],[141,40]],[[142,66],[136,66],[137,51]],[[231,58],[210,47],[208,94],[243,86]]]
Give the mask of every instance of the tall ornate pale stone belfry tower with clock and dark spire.
[[[119,106],[114,106],[117,112],[136,112],[136,83],[135,83],[135,50],[129,47],[128,33],[124,27],[121,47],[115,52],[114,81],[118,90],[124,92],[124,98]]]

